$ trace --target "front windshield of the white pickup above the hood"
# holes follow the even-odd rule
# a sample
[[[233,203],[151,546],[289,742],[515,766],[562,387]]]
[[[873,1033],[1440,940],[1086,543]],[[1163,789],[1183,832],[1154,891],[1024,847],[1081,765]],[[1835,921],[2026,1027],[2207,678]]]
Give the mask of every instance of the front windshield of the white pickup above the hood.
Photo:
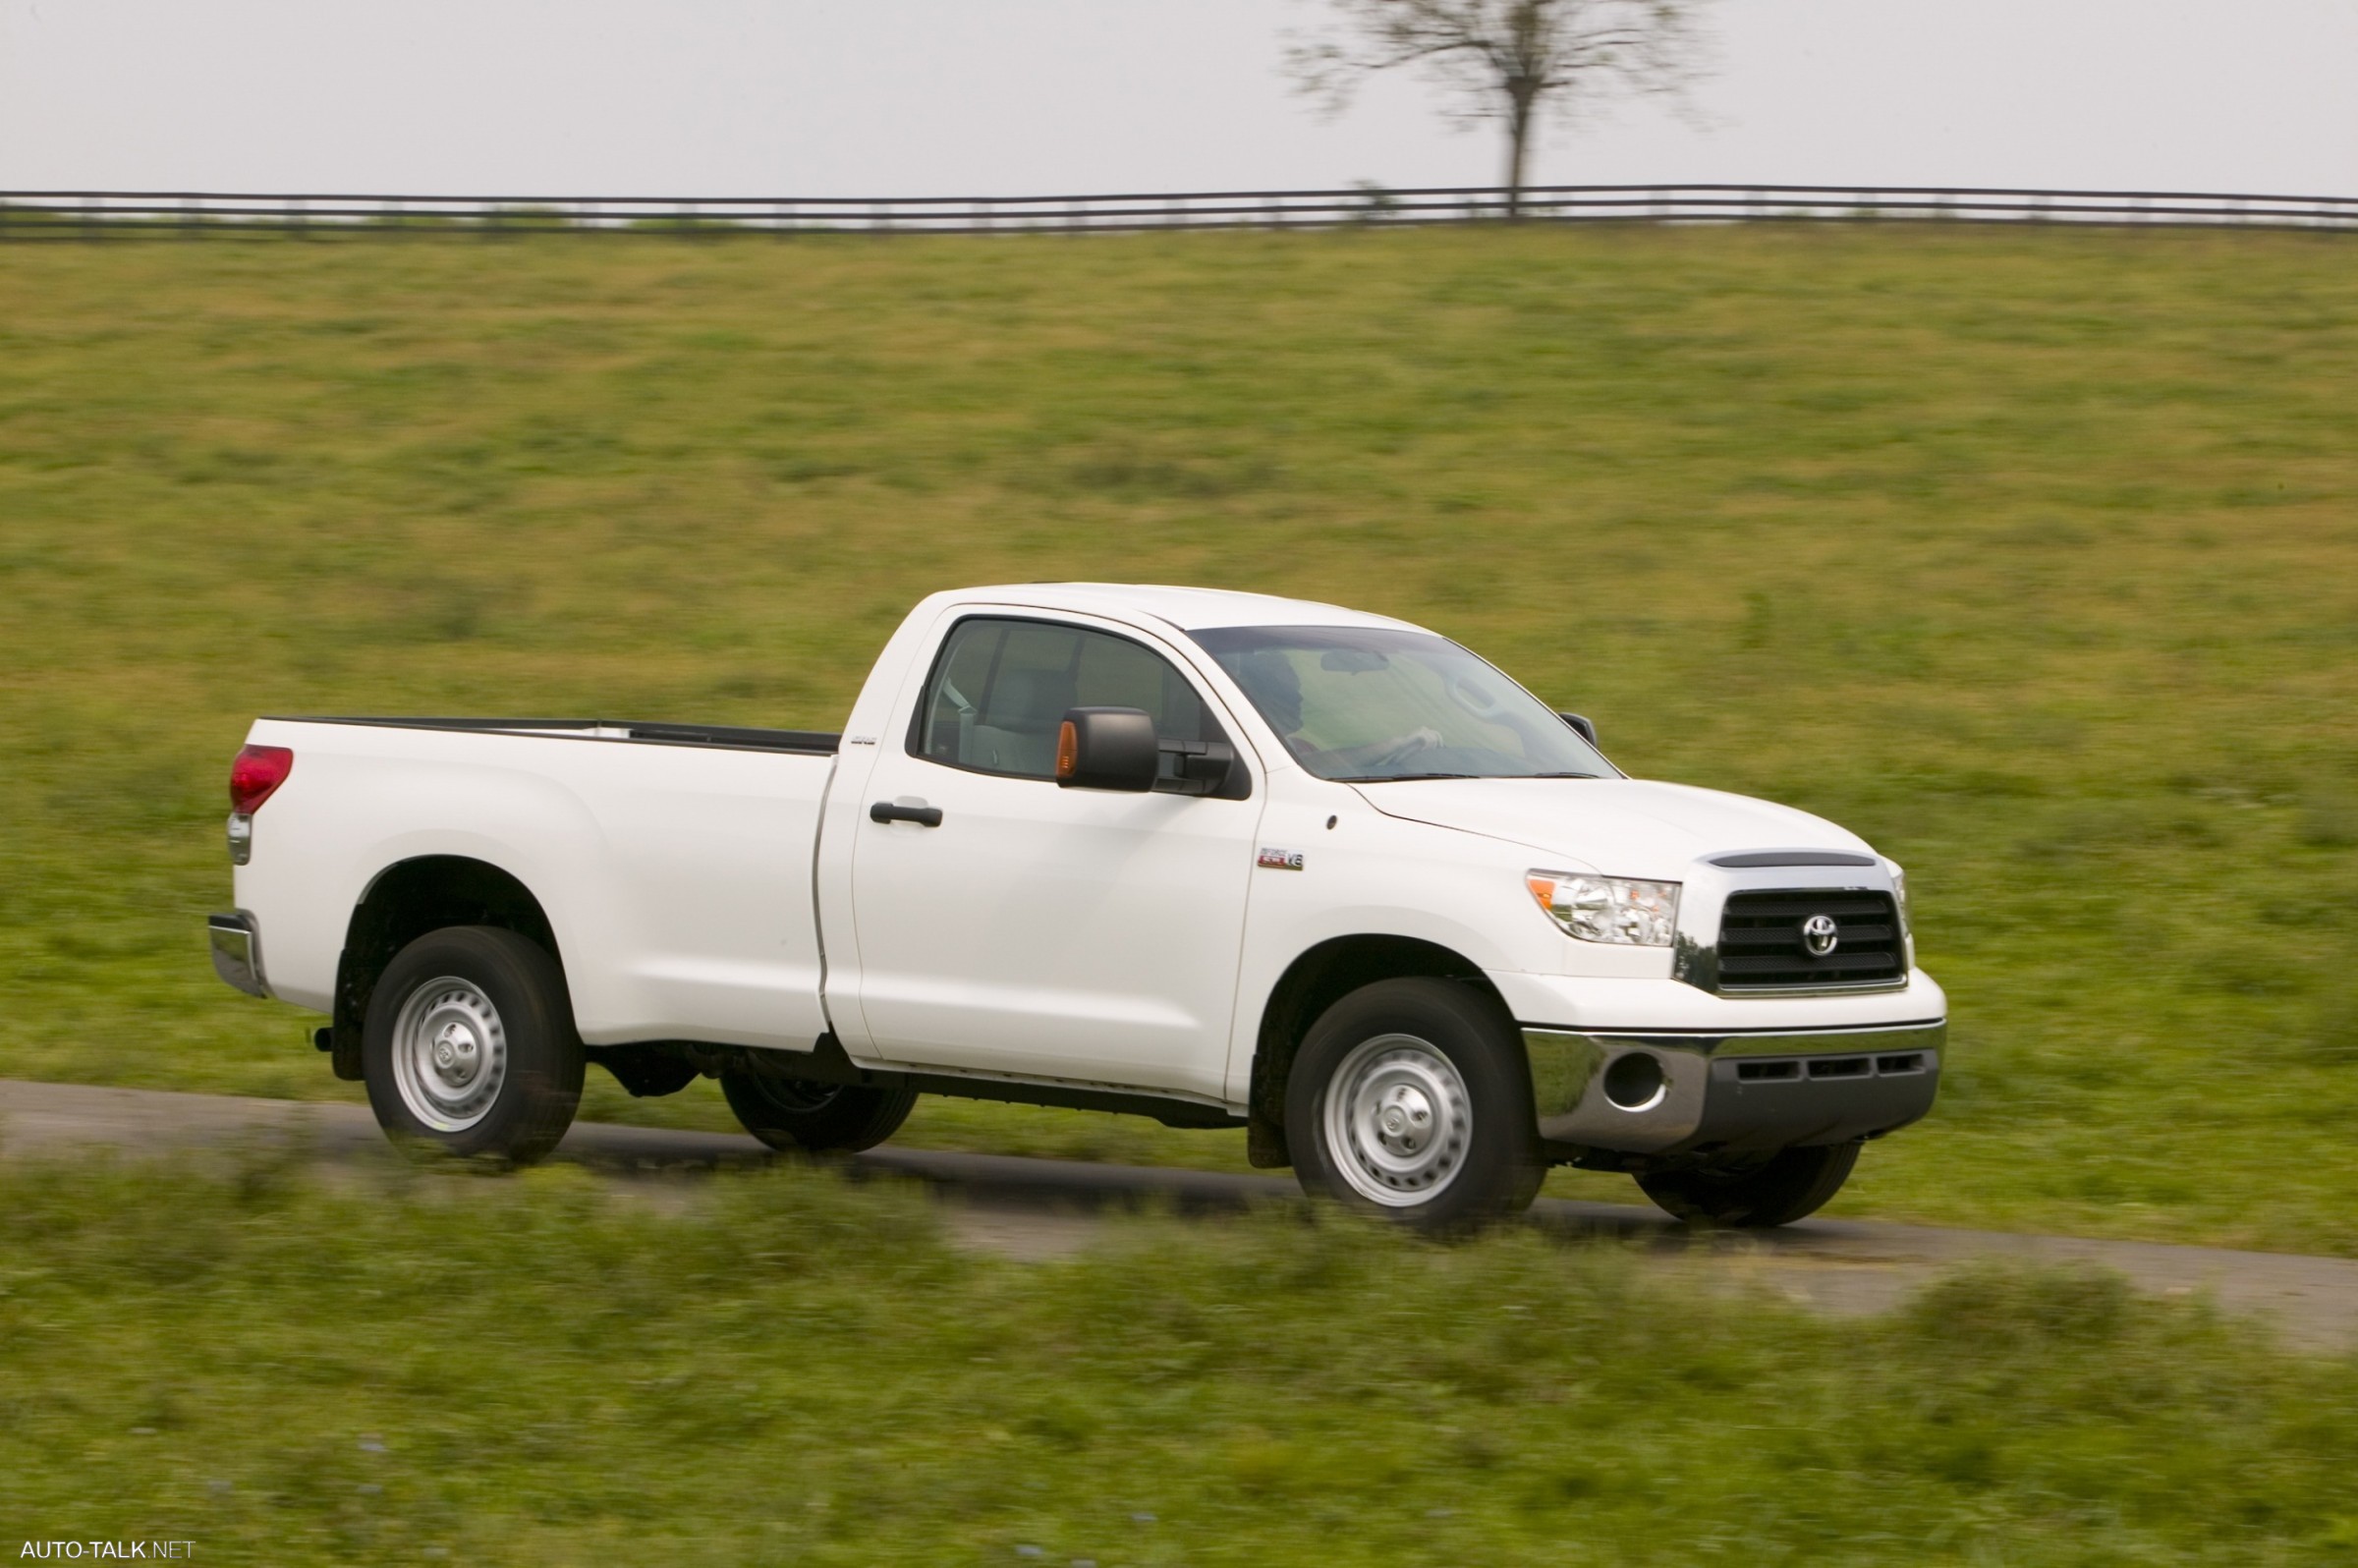
[[[1193,637],[1318,778],[1618,778],[1570,724],[1445,637],[1384,627]]]

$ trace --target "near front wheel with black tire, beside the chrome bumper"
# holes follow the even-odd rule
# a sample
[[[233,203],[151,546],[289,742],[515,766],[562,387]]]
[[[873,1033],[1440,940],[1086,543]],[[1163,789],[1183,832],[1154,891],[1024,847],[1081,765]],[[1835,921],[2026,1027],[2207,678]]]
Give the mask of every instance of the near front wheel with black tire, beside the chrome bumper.
[[[1455,981],[1377,981],[1335,1002],[1285,1080],[1285,1141],[1309,1195],[1431,1233],[1521,1214],[1547,1174],[1523,1037]]]

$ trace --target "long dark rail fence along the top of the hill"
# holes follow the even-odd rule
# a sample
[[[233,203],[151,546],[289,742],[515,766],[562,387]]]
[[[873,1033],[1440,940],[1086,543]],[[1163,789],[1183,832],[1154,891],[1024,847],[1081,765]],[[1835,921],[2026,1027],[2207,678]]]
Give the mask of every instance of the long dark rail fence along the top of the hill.
[[[1389,191],[1137,191],[1113,196],[262,196],[233,191],[0,191],[0,241],[384,231],[467,233],[1120,233],[1337,229],[1509,217],[1500,186]],[[2009,191],[1976,186],[1530,186],[1521,217],[1570,222],[1974,222],[2358,229],[2353,196]]]

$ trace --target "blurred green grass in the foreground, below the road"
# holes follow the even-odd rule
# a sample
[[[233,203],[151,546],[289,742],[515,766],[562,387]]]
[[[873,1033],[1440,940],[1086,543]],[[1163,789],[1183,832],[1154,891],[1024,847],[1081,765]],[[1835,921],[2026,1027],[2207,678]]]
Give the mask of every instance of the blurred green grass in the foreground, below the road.
[[[0,1167],[0,1530],[215,1563],[2339,1563],[2358,1361],[2096,1273],[1830,1323],[1530,1231],[950,1250],[778,1170]]]

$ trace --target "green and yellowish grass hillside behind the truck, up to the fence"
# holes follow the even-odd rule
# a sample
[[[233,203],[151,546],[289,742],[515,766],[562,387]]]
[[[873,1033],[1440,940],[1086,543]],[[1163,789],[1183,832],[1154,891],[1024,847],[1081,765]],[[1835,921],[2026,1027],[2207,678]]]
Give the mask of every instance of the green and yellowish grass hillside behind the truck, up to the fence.
[[[927,589],[1207,582],[1434,625],[1632,771],[1908,863],[1950,1075],[1839,1212],[2358,1254],[2353,259],[1934,226],[0,250],[0,1073],[349,1094],[203,962],[255,712],[832,729]],[[1240,1155],[971,1106],[908,1137]]]

